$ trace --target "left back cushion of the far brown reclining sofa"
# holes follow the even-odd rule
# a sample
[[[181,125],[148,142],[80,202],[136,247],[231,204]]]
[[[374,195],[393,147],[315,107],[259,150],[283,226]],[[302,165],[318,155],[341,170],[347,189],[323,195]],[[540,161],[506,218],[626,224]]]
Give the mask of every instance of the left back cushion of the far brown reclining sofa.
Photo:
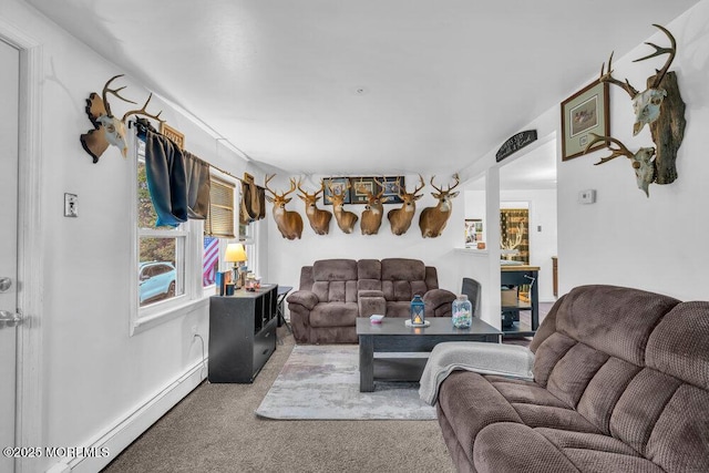
[[[312,265],[312,292],[320,302],[357,302],[357,261],[321,259]]]

